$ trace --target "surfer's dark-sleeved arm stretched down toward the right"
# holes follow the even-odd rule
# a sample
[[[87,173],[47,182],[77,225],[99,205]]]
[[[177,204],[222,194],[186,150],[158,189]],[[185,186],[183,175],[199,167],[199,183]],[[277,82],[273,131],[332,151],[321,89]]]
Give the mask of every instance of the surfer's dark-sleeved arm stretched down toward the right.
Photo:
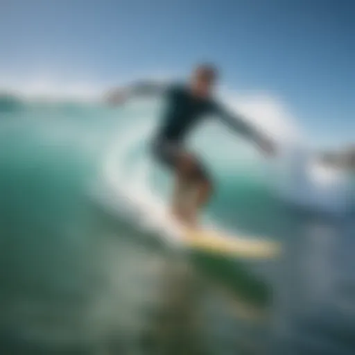
[[[263,152],[272,154],[275,150],[274,144],[265,135],[262,135],[257,128],[254,128],[248,121],[241,115],[231,114],[224,107],[216,105],[216,114],[219,119],[223,121],[229,128],[246,139],[257,144]]]

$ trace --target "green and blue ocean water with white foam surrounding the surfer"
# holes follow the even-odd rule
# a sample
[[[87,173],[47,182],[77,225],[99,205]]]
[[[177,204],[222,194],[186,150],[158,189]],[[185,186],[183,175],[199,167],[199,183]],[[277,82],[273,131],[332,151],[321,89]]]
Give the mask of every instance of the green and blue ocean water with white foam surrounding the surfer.
[[[187,253],[146,150],[161,105],[0,100],[1,354],[354,354],[352,176],[284,117],[254,114],[271,160],[207,123],[189,142],[216,183],[203,223],[283,253]]]

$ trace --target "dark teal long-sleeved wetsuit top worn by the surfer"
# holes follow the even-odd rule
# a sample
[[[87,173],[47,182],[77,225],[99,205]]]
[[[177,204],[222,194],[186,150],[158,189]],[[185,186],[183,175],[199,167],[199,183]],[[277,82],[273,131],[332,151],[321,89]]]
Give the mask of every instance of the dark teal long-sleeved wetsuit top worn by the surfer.
[[[187,87],[174,85],[166,91],[166,109],[157,133],[158,140],[182,144],[192,128],[204,117],[213,115],[244,137],[252,138],[254,130],[239,117],[232,116],[213,99],[193,96]]]

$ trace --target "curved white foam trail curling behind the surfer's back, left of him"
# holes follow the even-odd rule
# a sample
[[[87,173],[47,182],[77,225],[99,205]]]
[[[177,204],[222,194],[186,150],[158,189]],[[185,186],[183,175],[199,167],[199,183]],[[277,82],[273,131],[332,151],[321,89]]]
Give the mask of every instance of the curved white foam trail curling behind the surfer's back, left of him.
[[[145,141],[149,131],[150,125],[141,122],[138,127],[136,123],[127,130],[124,139],[119,134],[118,143],[108,149],[98,186],[101,191],[106,191],[101,193],[106,205],[135,220],[142,230],[163,232],[171,237],[168,241],[176,242],[181,231],[168,217],[164,198],[150,185],[152,164],[149,158],[141,155],[134,164],[130,164],[132,151],[142,143],[142,139]]]

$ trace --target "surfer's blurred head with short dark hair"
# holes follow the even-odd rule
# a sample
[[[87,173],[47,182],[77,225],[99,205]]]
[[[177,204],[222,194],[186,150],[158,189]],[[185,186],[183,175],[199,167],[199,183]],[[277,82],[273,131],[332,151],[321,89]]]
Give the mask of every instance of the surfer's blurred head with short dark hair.
[[[216,83],[218,72],[212,64],[199,64],[192,73],[191,89],[194,94],[208,97]]]

